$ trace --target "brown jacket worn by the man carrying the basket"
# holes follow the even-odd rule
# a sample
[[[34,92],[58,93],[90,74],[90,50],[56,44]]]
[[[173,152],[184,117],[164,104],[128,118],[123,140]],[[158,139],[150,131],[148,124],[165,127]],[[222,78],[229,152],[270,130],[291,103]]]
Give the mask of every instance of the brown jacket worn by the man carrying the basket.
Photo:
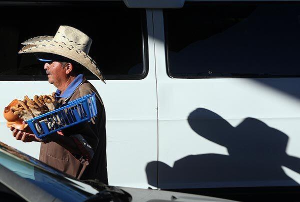
[[[49,142],[40,145],[39,160],[74,177],[80,179],[98,179],[108,184],[105,109],[96,89],[83,78],[82,83],[70,97],[60,98],[58,102],[64,104],[93,92],[97,95],[96,117],[90,122],[86,121],[62,130],[63,135],[73,137],[81,155],[74,155],[59,144]]]

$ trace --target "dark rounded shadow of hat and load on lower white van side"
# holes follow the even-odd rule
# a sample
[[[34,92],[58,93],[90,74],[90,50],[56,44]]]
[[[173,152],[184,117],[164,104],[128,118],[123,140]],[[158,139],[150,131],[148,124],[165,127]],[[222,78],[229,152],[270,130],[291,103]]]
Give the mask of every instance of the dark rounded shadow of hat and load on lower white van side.
[[[146,166],[148,183],[159,188],[224,186],[298,185],[281,166],[300,173],[300,159],[286,154],[288,136],[265,123],[246,118],[236,127],[207,109],[198,108],[188,116],[192,130],[200,136],[225,146],[229,155],[189,155],[173,167],[158,161]],[[178,187],[180,185],[181,187]]]

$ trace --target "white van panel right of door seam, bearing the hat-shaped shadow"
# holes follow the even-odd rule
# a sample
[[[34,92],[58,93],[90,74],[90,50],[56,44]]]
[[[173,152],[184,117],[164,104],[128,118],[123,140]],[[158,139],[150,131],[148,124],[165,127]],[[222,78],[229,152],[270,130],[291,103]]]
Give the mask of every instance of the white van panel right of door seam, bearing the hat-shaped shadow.
[[[158,187],[298,185],[300,78],[170,78],[162,10],[153,22]]]

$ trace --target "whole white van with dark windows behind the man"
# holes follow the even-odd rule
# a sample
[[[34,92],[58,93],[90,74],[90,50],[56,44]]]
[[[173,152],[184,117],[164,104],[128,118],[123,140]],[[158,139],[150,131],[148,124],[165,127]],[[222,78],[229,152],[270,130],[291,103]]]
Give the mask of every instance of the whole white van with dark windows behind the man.
[[[299,186],[299,3],[26,1],[0,16],[2,109],[55,91],[21,42],[59,25],[92,38],[111,185]],[[0,141],[38,157],[0,121]]]

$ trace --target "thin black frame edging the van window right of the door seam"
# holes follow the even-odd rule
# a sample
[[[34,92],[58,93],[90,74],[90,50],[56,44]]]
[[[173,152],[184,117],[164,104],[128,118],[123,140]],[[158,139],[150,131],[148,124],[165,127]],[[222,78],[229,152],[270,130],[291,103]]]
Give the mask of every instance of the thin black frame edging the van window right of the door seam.
[[[185,2],[183,9],[188,9],[192,7],[198,7],[202,4],[228,4],[230,2]],[[291,4],[297,4],[298,2],[291,2]],[[233,2],[232,4],[289,4],[289,2]],[[299,4],[299,3],[298,3]],[[300,5],[300,4],[299,4]],[[243,76],[175,76],[170,73],[170,64],[169,64],[169,51],[168,51],[168,33],[167,33],[167,15],[166,11],[171,9],[164,9],[162,12],[163,16],[163,31],[164,31],[164,53],[165,53],[165,66],[166,66],[166,74],[171,79],[226,79],[226,78],[299,78],[299,75],[265,75],[265,74],[257,74],[257,75],[243,75]],[[203,72],[204,73],[204,72]],[[234,73],[232,73],[234,74]],[[235,73],[238,74],[238,73]]]

